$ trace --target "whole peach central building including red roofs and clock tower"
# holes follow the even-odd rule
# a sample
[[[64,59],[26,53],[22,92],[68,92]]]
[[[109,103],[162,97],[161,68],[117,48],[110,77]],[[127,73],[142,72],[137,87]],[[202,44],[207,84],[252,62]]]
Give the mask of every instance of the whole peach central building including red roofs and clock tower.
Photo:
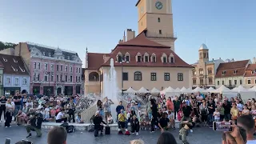
[[[118,45],[108,54],[86,50],[85,93],[103,92],[103,74],[114,59],[120,90],[144,86],[151,90],[192,87],[193,66],[174,53],[174,27],[171,0],[138,0],[138,36],[127,29]]]

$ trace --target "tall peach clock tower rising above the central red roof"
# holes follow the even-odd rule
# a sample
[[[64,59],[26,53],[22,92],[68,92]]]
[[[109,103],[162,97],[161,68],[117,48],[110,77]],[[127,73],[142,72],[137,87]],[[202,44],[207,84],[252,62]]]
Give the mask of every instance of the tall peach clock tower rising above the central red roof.
[[[174,50],[173,14],[171,0],[138,0],[138,34]]]

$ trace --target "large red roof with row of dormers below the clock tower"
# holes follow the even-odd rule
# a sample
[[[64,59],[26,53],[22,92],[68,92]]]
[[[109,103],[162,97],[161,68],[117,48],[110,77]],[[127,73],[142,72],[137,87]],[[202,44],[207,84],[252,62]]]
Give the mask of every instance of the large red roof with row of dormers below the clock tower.
[[[151,46],[150,46],[151,45]],[[170,50],[170,46],[163,46],[158,44],[157,42],[150,41],[146,38],[144,33],[139,34],[138,37],[121,44],[115,47],[115,49],[110,54],[110,58],[107,62],[102,64],[102,66],[110,66],[110,59],[113,58],[116,60],[116,56],[118,53],[122,53],[123,55],[126,53],[130,54],[130,62],[123,62],[123,64],[119,62],[114,62],[114,66],[154,66],[154,67],[194,67],[179,58],[177,54],[174,53],[173,50]],[[147,53],[149,56],[152,54],[156,55],[156,62],[136,62],[136,55],[140,53],[142,56]],[[167,55],[168,62],[163,63],[161,61],[162,54]],[[170,54],[174,55],[174,63],[169,62]],[[150,57],[149,57],[150,59]]]

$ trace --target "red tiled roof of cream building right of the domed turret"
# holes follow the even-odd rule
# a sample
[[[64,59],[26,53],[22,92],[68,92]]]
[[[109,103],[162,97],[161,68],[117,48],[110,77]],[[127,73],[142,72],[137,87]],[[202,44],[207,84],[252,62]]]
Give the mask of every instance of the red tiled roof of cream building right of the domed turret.
[[[250,60],[243,60],[236,62],[221,63],[218,66],[215,78],[242,76],[246,72],[246,66],[249,63],[249,61]],[[236,74],[234,74],[234,70],[237,70]],[[226,71],[226,74],[222,75],[223,71]]]

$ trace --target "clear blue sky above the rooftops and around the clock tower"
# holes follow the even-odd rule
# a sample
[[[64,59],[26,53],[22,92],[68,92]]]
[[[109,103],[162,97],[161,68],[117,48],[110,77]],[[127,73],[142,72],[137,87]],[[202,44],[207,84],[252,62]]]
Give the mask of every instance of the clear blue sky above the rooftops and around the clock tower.
[[[0,0],[0,41],[36,42],[74,50],[84,61],[90,52],[106,52],[127,28],[138,31],[138,0]],[[198,60],[205,42],[210,58],[256,56],[255,0],[173,0],[175,52]],[[137,33],[136,33],[137,34]]]

